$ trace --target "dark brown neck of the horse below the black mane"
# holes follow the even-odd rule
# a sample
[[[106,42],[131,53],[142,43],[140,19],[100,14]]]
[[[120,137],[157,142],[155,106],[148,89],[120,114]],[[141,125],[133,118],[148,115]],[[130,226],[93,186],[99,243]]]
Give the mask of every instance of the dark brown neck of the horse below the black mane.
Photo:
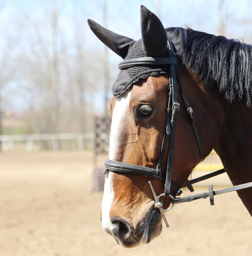
[[[215,150],[234,185],[252,181],[252,108],[223,100],[220,140]],[[252,215],[252,188],[238,191]]]

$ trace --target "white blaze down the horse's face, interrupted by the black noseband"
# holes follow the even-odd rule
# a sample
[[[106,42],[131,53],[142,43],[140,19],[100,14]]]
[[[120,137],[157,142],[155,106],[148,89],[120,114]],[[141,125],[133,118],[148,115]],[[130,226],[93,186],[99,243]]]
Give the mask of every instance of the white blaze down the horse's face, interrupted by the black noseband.
[[[116,100],[115,107],[112,115],[112,123],[110,130],[110,139],[109,139],[109,159],[115,160],[117,150],[119,148],[120,140],[120,124],[123,120],[123,117],[126,116],[127,109],[129,108],[131,92],[126,93],[124,96]],[[113,173],[109,172],[105,178],[104,192],[103,192],[103,201],[102,201],[102,227],[103,229],[111,230],[112,222],[109,218],[109,212],[114,200],[114,189],[112,181]]]

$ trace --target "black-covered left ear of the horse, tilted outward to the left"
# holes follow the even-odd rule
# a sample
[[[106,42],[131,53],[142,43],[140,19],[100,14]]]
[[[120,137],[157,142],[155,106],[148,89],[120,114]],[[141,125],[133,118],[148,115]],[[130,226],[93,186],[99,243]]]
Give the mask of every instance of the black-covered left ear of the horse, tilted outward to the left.
[[[88,24],[90,29],[94,32],[94,35],[123,59],[127,56],[129,49],[135,43],[135,40],[123,35],[118,35],[109,29],[105,29],[94,20],[88,19]]]

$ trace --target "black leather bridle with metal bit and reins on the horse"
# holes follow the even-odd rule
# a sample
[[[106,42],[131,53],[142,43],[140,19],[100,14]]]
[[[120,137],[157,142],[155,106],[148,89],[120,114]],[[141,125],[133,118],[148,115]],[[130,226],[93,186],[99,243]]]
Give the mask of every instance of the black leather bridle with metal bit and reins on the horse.
[[[168,92],[168,105],[167,105],[167,112],[166,112],[166,128],[163,136],[163,142],[161,146],[161,151],[160,151],[160,157],[158,160],[157,168],[152,169],[149,167],[145,166],[138,166],[138,165],[133,165],[133,164],[128,164],[128,163],[122,163],[118,162],[115,160],[106,160],[105,162],[105,170],[104,174],[107,172],[115,172],[118,174],[137,174],[137,175],[144,175],[148,177],[154,177],[158,178],[160,180],[163,180],[165,182],[165,189],[164,193],[161,195],[156,195],[155,190],[152,186],[152,183],[149,181],[149,185],[152,189],[152,193],[154,195],[155,203],[153,208],[159,209],[160,213],[166,223],[166,227],[169,227],[169,224],[166,220],[166,217],[164,215],[164,211],[169,210],[172,208],[173,204],[178,204],[182,202],[189,202],[193,201],[199,198],[210,198],[210,203],[211,205],[214,205],[214,195],[219,195],[223,194],[226,192],[231,192],[239,189],[245,189],[248,187],[252,187],[252,182],[250,183],[245,183],[242,185],[238,186],[233,186],[231,188],[227,189],[221,189],[217,191],[213,191],[212,185],[209,185],[209,192],[204,192],[201,194],[197,195],[192,195],[192,196],[186,196],[183,198],[174,198],[170,193],[171,193],[171,188],[176,192],[176,195],[181,195],[182,190],[180,186],[178,186],[174,181],[172,181],[172,166],[173,166],[173,154],[174,154],[174,145],[175,145],[175,128],[178,122],[178,115],[179,115],[179,108],[180,104],[178,103],[178,88],[177,88],[177,81],[180,84],[180,90],[181,94],[183,96],[183,102],[186,106],[187,113],[189,115],[189,120],[192,125],[192,130],[194,131],[196,141],[198,143],[198,149],[199,149],[199,156],[200,156],[200,162],[203,160],[203,148],[202,144],[200,142],[200,137],[195,125],[195,114],[192,108],[189,106],[187,99],[186,99],[186,94],[183,89],[183,84],[180,79],[180,74],[178,70],[178,65],[177,65],[177,56],[176,53],[173,49],[172,42],[170,39],[167,37],[167,51],[169,54],[169,57],[144,57],[144,58],[135,58],[135,59],[130,59],[126,61],[122,61],[119,64],[119,69],[124,70],[128,67],[134,67],[134,66],[143,66],[143,65],[170,65],[170,76],[169,76],[169,92]],[[168,150],[168,160],[167,160],[167,166],[166,166],[166,173],[161,172],[161,166],[163,163],[163,157],[164,157],[164,152],[166,149],[166,144],[168,141],[169,137],[169,150]],[[216,175],[219,175],[221,173],[225,172],[224,169],[221,169],[219,171],[213,172],[209,175],[204,175],[202,177],[199,177],[194,180],[187,180],[186,186],[189,188],[189,190],[192,192],[194,189],[192,188],[192,184],[206,180],[210,177],[214,177]],[[165,197],[170,197],[172,199],[172,206],[169,207],[168,209],[163,209],[163,203],[160,201],[160,197],[165,196]]]

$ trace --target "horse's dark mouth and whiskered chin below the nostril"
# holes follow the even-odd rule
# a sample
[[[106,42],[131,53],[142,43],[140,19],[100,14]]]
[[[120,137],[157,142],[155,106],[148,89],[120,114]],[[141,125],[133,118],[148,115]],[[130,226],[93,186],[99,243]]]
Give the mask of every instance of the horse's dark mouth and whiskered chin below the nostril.
[[[115,238],[117,244],[126,248],[137,247],[140,244],[148,244],[160,235],[162,230],[161,215],[157,209],[150,209],[147,218],[140,221],[135,232],[128,239],[120,241]]]

